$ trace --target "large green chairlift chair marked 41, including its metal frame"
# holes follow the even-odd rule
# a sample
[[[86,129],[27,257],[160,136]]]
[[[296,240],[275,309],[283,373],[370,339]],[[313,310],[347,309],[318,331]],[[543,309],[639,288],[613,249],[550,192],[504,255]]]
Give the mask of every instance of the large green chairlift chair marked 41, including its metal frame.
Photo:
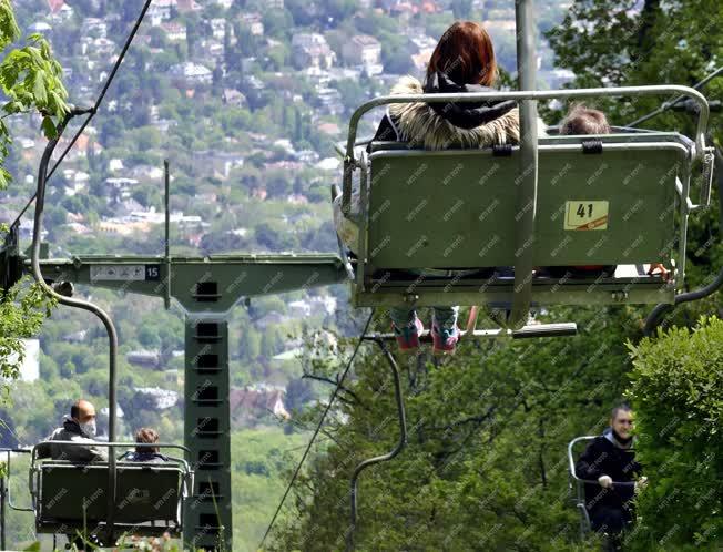
[[[516,248],[515,239],[516,184],[529,168],[521,166],[519,146],[429,151],[407,143],[356,141],[362,116],[390,103],[664,93],[682,93],[700,108],[694,140],[629,127],[614,127],[608,135],[539,139],[538,194],[529,205],[536,211],[534,234],[523,251]],[[345,214],[353,175],[359,174],[356,258],[339,243],[354,305],[510,306],[519,299],[511,275],[422,278],[405,272],[516,267],[525,255],[532,255],[539,267],[618,265],[612,276],[536,275],[531,307],[673,304],[684,280],[688,216],[710,204],[707,117],[707,101],[700,92],[673,85],[389,95],[365,103],[352,116],[346,149],[337,146],[344,156]],[[368,145],[369,152],[355,147],[359,145]],[[699,203],[691,200],[693,174],[702,176]],[[658,262],[671,266],[669,280],[646,274],[645,265]],[[537,335],[560,329],[541,326]]]

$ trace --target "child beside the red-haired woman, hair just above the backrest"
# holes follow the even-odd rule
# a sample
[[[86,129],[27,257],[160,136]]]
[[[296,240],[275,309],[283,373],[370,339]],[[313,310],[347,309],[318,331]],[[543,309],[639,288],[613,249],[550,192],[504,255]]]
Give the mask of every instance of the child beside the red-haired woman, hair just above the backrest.
[[[587,108],[583,104],[573,104],[568,115],[560,123],[560,135],[574,134],[610,134],[610,124],[602,111]],[[548,266],[544,268],[551,276],[561,278],[567,276],[600,276],[612,277],[615,274],[615,265],[578,265],[578,266]],[[660,273],[664,279],[668,278],[668,270],[660,263],[650,265],[648,274]]]

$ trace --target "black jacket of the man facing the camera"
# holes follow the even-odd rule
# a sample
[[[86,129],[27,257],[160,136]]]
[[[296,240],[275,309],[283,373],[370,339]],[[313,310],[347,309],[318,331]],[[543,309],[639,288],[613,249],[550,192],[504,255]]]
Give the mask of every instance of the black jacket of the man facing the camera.
[[[632,449],[621,449],[608,437],[607,430],[592,441],[576,464],[576,473],[580,479],[597,481],[600,476],[610,476],[615,482],[632,482],[633,476],[642,474],[642,467],[635,461]],[[585,483],[585,507],[593,513],[601,505],[610,508],[630,508],[628,502],[634,497],[633,485],[613,485],[604,489],[599,483]]]

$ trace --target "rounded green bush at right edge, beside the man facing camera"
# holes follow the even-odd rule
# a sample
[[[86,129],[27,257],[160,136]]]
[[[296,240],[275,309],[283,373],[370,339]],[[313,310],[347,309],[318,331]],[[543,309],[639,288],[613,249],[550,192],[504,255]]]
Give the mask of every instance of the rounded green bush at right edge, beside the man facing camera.
[[[723,321],[701,319],[632,347],[639,459],[633,552],[723,546]]]

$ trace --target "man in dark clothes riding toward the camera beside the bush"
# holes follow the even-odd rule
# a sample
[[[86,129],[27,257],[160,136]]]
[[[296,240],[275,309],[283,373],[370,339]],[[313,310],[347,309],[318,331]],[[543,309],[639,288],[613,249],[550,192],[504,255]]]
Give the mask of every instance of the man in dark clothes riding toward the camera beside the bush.
[[[646,479],[635,461],[633,449],[632,410],[629,405],[612,409],[610,427],[597,437],[576,464],[580,479],[598,481],[585,483],[585,508],[593,531],[608,535],[605,550],[620,550],[620,533],[634,519],[632,499]],[[619,485],[615,483],[633,483]]]

